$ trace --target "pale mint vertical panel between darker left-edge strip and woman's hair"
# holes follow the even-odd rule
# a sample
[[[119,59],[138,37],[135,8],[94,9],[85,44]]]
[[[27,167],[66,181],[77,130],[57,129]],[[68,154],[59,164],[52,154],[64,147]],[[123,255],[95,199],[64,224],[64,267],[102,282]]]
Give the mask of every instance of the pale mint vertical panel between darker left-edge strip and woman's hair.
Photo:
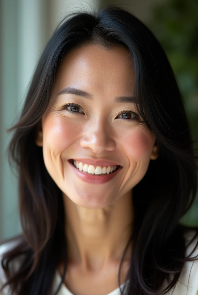
[[[21,109],[28,85],[48,41],[48,0],[18,0],[18,99]]]

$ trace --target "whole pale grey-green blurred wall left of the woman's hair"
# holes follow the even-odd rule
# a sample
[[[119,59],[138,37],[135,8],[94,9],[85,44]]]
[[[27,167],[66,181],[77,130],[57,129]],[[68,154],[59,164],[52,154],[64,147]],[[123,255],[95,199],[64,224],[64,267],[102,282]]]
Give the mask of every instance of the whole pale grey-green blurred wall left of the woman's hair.
[[[27,86],[47,36],[47,0],[1,0],[0,239],[21,232],[18,175],[10,170],[6,128],[17,122]]]

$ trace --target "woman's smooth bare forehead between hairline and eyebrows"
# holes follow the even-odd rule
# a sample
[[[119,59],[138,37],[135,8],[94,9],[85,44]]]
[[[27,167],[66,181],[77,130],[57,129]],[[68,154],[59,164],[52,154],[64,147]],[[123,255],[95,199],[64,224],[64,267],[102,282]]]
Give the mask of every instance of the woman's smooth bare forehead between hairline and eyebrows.
[[[72,50],[58,68],[55,92],[67,86],[86,91],[132,91],[135,73],[125,47],[102,48],[95,44]]]

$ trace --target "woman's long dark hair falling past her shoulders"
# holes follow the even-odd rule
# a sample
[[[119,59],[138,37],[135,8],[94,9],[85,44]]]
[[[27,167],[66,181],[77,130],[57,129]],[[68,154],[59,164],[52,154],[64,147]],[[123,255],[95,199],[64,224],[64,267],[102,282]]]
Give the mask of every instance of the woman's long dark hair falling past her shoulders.
[[[17,295],[52,294],[52,278],[60,261],[65,262],[65,275],[62,192],[47,172],[35,136],[62,58],[76,47],[93,43],[128,49],[135,68],[136,108],[159,143],[158,158],[150,161],[145,176],[133,188],[133,235],[129,239],[133,253],[126,294],[165,294],[178,281],[184,262],[194,259],[186,257],[184,234],[194,230],[194,240],[198,228],[185,226],[180,219],[196,196],[197,156],[182,95],[166,54],[151,31],[124,9],[110,5],[97,13],[73,12],[47,43],[20,118],[8,129],[14,130],[8,152],[10,165],[14,163],[19,172],[23,233],[17,245],[4,254],[2,267],[7,284]],[[11,264],[19,257],[20,267],[13,273]],[[119,278],[120,269],[120,285]],[[169,284],[163,291],[165,279]]]

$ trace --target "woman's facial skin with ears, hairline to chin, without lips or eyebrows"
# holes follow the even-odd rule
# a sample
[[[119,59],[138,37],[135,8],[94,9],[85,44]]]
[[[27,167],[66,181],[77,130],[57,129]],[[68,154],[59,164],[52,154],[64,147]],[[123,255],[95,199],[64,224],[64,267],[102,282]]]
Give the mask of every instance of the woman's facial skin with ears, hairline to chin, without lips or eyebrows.
[[[124,47],[84,45],[63,58],[57,71],[36,144],[43,147],[52,179],[79,206],[99,209],[111,205],[141,181],[150,160],[157,158],[153,132],[134,114],[126,116],[129,111],[136,113],[135,104],[116,101],[116,97],[133,96],[134,82],[133,65]],[[59,94],[66,87],[86,91],[91,98]],[[63,109],[68,103],[80,107]],[[103,158],[123,168],[106,183],[86,183],[68,162],[77,158]]]

